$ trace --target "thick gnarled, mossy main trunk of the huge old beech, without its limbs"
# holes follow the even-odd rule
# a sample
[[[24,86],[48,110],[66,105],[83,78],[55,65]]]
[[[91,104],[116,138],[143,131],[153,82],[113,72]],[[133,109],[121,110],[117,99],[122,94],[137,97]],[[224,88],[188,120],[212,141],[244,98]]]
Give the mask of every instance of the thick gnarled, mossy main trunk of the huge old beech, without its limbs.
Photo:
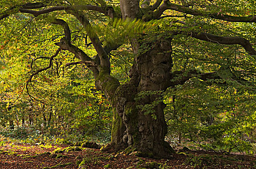
[[[170,81],[171,44],[170,40],[162,40],[151,45],[154,47],[150,51],[135,58],[131,80],[115,92],[111,145],[116,150],[130,146],[143,156],[167,157],[174,151],[164,141],[167,133],[165,104],[158,101],[161,96],[156,91],[166,90]],[[142,91],[153,94],[136,99]],[[146,104],[154,106],[147,111],[138,108]]]

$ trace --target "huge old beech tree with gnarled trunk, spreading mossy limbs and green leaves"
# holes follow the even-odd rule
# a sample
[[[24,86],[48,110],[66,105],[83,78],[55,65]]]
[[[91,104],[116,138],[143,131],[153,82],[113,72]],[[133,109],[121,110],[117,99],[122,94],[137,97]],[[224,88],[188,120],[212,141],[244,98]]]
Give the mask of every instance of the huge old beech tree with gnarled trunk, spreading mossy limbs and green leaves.
[[[249,85],[254,84],[254,70],[250,69],[250,64],[253,64],[256,55],[252,31],[256,22],[254,0],[1,1],[2,23],[8,17],[23,14],[35,23],[38,20],[40,24],[57,24],[64,30],[62,39],[55,43],[58,49],[49,57],[49,66],[32,70],[26,86],[28,88],[33,76],[50,68],[53,58],[62,51],[80,59],[80,62],[70,65],[85,64],[93,72],[96,88],[104,91],[112,104],[112,140],[104,149],[130,147],[142,155],[156,157],[174,153],[164,141],[167,133],[163,112],[165,104],[158,91],[184,84],[191,78],[198,78],[208,85],[231,85],[232,82],[234,86],[245,86],[248,90],[254,88]],[[98,18],[104,17],[109,26],[115,25],[113,29],[123,28],[125,31],[125,27],[129,26],[129,33],[125,37],[104,41],[90,13],[97,14]],[[42,22],[45,18],[47,22]],[[96,50],[96,56],[89,56],[86,50],[72,42],[68,24],[71,22],[82,25],[86,38]],[[125,42],[120,40],[125,38]],[[134,57],[129,81],[120,84],[112,76],[109,54],[123,43],[131,45]],[[5,43],[2,42],[2,45]],[[182,45],[187,48],[182,48]],[[193,46],[194,51],[188,52],[188,45]],[[221,56],[222,52],[229,54]],[[184,55],[185,62],[180,59]],[[200,61],[197,65],[192,63],[196,59]],[[243,68],[244,60],[247,60],[249,69]],[[183,65],[182,69],[178,69],[179,64]],[[151,94],[138,98],[142,92]],[[144,105],[153,105],[150,113],[141,109]]]

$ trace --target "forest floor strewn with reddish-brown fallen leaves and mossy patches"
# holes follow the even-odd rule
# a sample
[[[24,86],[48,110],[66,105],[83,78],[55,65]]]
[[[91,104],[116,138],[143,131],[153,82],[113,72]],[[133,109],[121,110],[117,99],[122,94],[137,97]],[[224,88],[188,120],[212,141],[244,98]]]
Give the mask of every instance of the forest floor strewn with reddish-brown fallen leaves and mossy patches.
[[[78,169],[81,161],[80,169],[256,169],[256,156],[209,151],[177,153],[167,160],[67,145],[5,143],[0,146],[0,169]]]

